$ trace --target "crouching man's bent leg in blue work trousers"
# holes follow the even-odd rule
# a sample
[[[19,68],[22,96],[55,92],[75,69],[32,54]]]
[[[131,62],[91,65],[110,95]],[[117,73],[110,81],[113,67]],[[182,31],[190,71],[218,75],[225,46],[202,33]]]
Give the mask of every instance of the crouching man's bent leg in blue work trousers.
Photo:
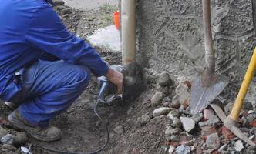
[[[65,111],[89,84],[86,66],[67,62],[39,61],[22,75],[22,102],[19,113],[35,126],[48,126],[49,120]]]

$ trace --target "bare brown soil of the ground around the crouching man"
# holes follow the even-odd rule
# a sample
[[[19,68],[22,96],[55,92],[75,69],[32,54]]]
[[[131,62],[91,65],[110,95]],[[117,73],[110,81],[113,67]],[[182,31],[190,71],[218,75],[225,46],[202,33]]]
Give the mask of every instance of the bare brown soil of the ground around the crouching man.
[[[104,6],[90,11],[80,11],[65,5],[56,6],[56,10],[62,17],[67,28],[80,38],[85,39],[97,28],[110,25],[109,18],[116,11],[115,7]],[[103,59],[110,64],[120,64],[121,53],[112,52],[109,49],[95,47]],[[29,138],[30,144],[42,144],[52,148],[62,149],[66,152],[89,152],[98,149],[106,142],[104,127],[93,112],[96,105],[97,79],[93,78],[88,89],[73,103],[64,113],[52,119],[51,124],[62,129],[62,139],[57,142],[38,142]],[[154,82],[154,81],[150,81]],[[116,102],[111,106],[99,108],[99,115],[107,122],[109,127],[109,144],[103,152],[106,154],[163,154],[165,152],[164,130],[166,128],[165,117],[153,118],[153,107],[150,106],[150,98],[155,92],[154,85],[145,87],[145,91],[134,102],[123,104]],[[7,118],[12,112],[3,103],[0,103],[0,116]],[[142,115],[150,115],[150,122],[141,124]],[[5,153],[0,149],[0,153]],[[20,149],[14,152],[20,153]],[[34,154],[50,154],[53,152],[32,148]]]

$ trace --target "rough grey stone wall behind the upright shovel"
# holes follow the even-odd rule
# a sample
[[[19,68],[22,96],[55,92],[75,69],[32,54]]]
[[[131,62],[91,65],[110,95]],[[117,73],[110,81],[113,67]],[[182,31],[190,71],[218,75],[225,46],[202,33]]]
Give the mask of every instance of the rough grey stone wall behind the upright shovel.
[[[216,71],[229,76],[236,88],[256,47],[251,1],[211,1]],[[152,71],[192,77],[204,68],[200,0],[138,0],[136,10],[139,51]]]

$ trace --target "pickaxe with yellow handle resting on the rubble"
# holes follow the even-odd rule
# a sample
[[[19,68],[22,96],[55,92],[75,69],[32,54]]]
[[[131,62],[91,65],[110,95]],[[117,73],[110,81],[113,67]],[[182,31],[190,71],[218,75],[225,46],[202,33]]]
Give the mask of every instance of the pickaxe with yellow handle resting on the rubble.
[[[227,129],[230,129],[231,132],[234,133],[234,135],[242,139],[244,142],[247,142],[251,146],[256,146],[256,145],[254,142],[248,139],[247,136],[244,136],[244,133],[241,132],[241,130],[238,129],[237,126],[235,126],[235,122],[237,121],[237,118],[241,112],[242,106],[244,104],[244,97],[248,91],[255,69],[256,69],[256,48],[254,49],[254,53],[251,57],[251,62],[249,63],[248,69],[244,75],[244,80],[242,82],[241,88],[238,92],[237,99],[234,102],[234,106],[230,115],[226,117],[226,115],[224,114],[220,106],[216,104],[211,104],[211,107],[214,109],[214,111],[219,116],[221,121],[224,122],[224,126],[226,126]]]

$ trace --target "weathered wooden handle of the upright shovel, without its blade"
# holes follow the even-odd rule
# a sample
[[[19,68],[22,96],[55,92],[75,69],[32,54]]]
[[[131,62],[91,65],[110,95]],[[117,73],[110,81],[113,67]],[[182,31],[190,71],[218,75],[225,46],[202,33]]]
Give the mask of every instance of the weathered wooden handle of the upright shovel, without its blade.
[[[204,19],[204,45],[205,45],[205,62],[207,71],[211,75],[215,72],[215,59],[213,40],[211,34],[211,4],[210,0],[202,0],[203,19]]]

